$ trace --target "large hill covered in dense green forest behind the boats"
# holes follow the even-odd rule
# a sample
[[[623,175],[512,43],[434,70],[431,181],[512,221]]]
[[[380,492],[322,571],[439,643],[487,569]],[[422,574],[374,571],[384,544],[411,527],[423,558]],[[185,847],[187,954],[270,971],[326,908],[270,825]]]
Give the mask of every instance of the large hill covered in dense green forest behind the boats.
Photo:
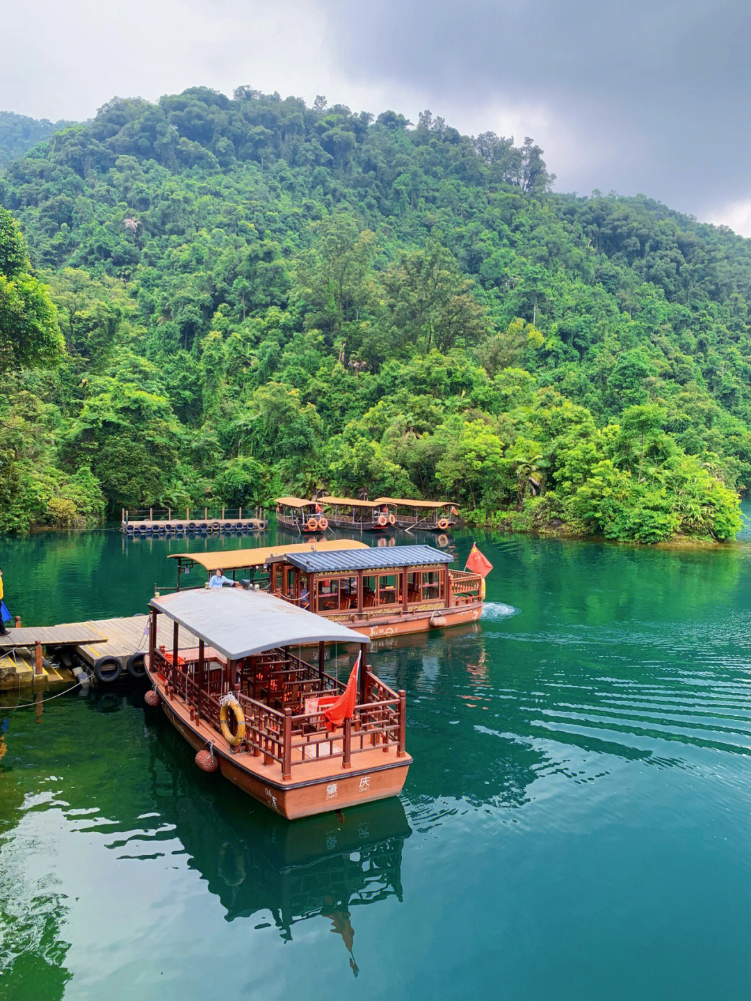
[[[550,187],[532,140],[248,88],[52,133],[0,174],[66,345],[0,351],[0,526],[327,487],[732,537],[751,242]]]

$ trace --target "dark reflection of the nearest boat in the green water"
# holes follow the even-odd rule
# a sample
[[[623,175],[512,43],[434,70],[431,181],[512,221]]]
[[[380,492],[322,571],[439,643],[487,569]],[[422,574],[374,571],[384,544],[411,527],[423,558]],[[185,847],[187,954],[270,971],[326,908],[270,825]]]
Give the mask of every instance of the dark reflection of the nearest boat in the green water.
[[[354,912],[402,900],[402,848],[411,835],[397,797],[290,824],[252,804],[216,776],[204,776],[179,736],[160,728],[152,744],[152,792],[163,820],[219,898],[227,921],[268,915],[285,941],[313,918],[331,922],[354,959]],[[185,760],[184,760],[185,759]],[[165,784],[165,779],[167,780]],[[356,922],[355,922],[356,923]]]

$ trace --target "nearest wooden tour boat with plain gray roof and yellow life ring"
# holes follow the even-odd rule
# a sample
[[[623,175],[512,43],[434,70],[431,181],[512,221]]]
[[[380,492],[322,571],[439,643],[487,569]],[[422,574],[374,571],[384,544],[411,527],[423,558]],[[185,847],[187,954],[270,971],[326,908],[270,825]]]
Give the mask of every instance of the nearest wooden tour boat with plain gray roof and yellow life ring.
[[[191,589],[149,607],[148,676],[199,767],[289,819],[401,791],[412,763],[406,695],[370,672],[359,633],[239,588]],[[169,651],[156,645],[159,615],[173,623]],[[324,670],[332,643],[359,650],[347,685]],[[292,652],[311,646],[315,667]]]

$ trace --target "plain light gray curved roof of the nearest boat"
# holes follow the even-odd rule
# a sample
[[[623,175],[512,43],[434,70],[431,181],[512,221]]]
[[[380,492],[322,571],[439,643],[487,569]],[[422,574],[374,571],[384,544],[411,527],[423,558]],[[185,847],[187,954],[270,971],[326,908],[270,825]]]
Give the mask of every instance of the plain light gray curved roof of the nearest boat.
[[[230,661],[275,647],[310,643],[370,643],[361,633],[263,591],[196,588],[152,598],[163,612]]]

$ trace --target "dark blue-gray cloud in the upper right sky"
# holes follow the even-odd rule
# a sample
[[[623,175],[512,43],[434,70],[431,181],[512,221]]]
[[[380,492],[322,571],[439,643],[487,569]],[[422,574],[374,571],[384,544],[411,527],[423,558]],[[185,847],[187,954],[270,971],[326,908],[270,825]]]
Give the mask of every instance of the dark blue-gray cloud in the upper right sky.
[[[474,128],[524,125],[528,109],[559,189],[641,191],[697,214],[751,196],[743,3],[325,6],[348,78],[407,85]]]

